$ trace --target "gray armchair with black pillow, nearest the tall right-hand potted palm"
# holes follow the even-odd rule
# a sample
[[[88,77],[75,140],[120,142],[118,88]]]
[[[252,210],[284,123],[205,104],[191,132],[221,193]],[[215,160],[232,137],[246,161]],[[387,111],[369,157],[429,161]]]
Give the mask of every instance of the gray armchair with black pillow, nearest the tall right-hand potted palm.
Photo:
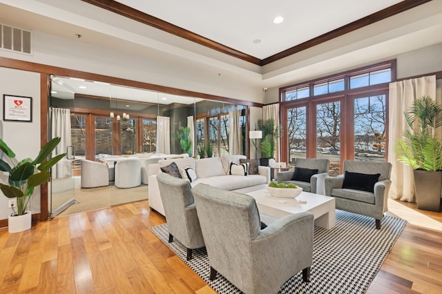
[[[344,175],[327,177],[325,179],[325,195],[335,197],[336,208],[358,213],[376,219],[376,228],[381,228],[381,219],[388,210],[388,191],[392,181],[392,164],[384,161],[354,161],[345,160]],[[345,172],[374,175],[379,173],[379,179],[374,184],[373,192],[343,188]],[[356,183],[357,184],[357,183]],[[364,183],[361,182],[361,185]]]

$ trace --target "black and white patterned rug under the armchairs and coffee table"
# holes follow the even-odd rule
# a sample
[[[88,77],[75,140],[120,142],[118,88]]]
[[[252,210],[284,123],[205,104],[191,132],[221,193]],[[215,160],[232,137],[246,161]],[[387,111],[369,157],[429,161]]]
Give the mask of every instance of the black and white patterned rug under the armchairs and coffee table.
[[[405,223],[404,219],[387,216],[381,230],[376,230],[373,218],[336,210],[334,228],[315,226],[310,282],[302,282],[300,271],[282,285],[279,293],[365,293]],[[205,248],[194,250],[188,262],[186,248],[176,239],[168,242],[166,224],[151,231],[216,292],[241,293],[219,273],[216,280],[209,280]]]

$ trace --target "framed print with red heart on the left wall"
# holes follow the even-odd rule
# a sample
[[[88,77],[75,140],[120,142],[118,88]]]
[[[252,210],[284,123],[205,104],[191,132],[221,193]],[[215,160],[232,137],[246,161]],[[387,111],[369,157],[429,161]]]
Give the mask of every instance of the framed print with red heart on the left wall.
[[[3,95],[3,120],[32,121],[32,97]]]

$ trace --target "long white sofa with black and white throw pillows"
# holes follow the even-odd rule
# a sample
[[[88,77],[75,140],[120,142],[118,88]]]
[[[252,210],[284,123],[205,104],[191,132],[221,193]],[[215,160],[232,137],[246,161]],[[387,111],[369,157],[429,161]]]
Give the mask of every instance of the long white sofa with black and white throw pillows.
[[[163,159],[157,164],[148,166],[148,202],[151,209],[164,215],[164,208],[158,188],[157,174],[162,173],[161,167],[168,166],[172,162],[177,164],[178,168],[191,166],[197,175],[197,179],[191,182],[191,186],[199,183],[210,186],[231,190],[238,193],[248,193],[253,190],[265,188],[270,182],[270,168],[259,166],[259,175],[229,175],[230,162],[239,163],[240,159],[245,159],[244,155],[223,155],[220,157],[210,157],[204,159],[181,158],[181,159]]]

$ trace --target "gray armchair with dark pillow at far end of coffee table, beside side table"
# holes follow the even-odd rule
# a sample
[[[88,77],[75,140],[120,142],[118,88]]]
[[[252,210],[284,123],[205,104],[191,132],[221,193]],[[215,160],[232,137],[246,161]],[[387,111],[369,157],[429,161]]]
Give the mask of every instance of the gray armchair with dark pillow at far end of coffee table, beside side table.
[[[316,159],[316,158],[296,158],[296,168],[309,168],[317,169],[318,173],[312,175],[309,182],[292,180],[294,170],[288,170],[278,173],[276,179],[278,183],[294,183],[296,186],[300,186],[303,191],[325,195],[324,179],[329,176],[329,159]]]

